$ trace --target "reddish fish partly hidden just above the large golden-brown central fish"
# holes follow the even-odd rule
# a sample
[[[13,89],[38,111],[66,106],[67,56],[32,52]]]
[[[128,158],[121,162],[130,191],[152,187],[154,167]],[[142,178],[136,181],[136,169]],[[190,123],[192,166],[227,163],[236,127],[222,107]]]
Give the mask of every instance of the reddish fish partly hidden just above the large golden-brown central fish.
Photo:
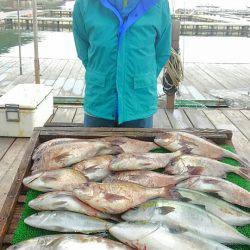
[[[134,171],[122,171],[116,172],[113,175],[105,178],[103,183],[113,182],[133,182],[144,187],[159,188],[159,187],[173,187],[180,181],[185,180],[183,176],[172,176],[159,174],[153,171],[147,170],[134,170]]]

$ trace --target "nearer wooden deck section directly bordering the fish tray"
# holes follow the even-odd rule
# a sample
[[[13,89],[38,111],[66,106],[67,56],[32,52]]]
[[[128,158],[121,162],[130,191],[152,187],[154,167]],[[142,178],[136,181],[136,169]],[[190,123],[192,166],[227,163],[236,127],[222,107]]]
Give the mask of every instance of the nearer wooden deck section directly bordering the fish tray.
[[[81,107],[57,107],[51,123],[82,123]],[[233,131],[232,142],[238,154],[250,156],[250,110],[232,109],[159,109],[154,117],[155,128],[217,128]],[[28,139],[0,138],[0,211],[13,182]]]

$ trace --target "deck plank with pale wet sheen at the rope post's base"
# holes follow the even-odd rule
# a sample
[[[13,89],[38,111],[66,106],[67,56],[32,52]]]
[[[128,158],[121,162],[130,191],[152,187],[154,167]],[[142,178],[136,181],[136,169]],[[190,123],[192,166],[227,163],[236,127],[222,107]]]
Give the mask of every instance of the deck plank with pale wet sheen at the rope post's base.
[[[166,110],[166,114],[173,129],[185,129],[193,127],[182,109]]]

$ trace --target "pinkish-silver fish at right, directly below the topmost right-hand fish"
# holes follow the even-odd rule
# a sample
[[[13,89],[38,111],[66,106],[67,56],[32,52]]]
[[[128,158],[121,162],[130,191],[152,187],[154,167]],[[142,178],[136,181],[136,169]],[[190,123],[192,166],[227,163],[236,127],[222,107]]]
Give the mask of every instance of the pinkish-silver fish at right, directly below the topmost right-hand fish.
[[[227,173],[235,173],[250,180],[250,168],[235,167],[196,155],[181,155],[173,159],[166,166],[165,173],[172,175],[208,175],[221,178],[226,177]]]

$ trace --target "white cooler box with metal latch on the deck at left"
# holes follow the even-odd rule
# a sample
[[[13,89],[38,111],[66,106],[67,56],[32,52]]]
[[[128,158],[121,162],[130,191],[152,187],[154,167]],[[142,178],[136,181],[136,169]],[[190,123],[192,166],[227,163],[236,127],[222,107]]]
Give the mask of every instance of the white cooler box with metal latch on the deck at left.
[[[0,97],[0,136],[30,137],[52,114],[51,87],[19,84]]]

